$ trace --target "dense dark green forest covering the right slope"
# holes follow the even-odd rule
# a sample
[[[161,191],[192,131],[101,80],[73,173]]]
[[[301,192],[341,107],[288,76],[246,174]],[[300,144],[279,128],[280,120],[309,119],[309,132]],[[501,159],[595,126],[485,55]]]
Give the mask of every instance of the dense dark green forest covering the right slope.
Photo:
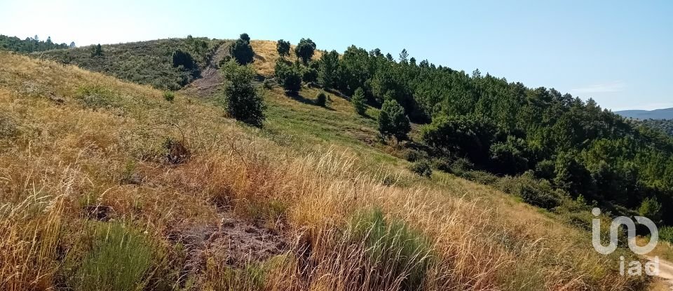
[[[304,43],[310,52],[302,56]],[[292,93],[303,78],[353,96],[363,115],[362,102],[381,108],[382,137],[412,149],[409,160],[422,160],[421,172],[431,164],[459,175],[526,177],[533,187],[519,196],[533,205],[552,209],[570,200],[673,223],[673,213],[661,211],[673,207],[673,140],[659,130],[637,126],[592,99],[528,88],[479,69],[466,74],[418,62],[406,50],[395,59],[351,46],[308,61],[314,48],[302,39],[294,65],[281,57],[278,83]],[[285,50],[279,44],[279,55]],[[420,133],[407,135],[409,121],[400,115],[420,123]]]

